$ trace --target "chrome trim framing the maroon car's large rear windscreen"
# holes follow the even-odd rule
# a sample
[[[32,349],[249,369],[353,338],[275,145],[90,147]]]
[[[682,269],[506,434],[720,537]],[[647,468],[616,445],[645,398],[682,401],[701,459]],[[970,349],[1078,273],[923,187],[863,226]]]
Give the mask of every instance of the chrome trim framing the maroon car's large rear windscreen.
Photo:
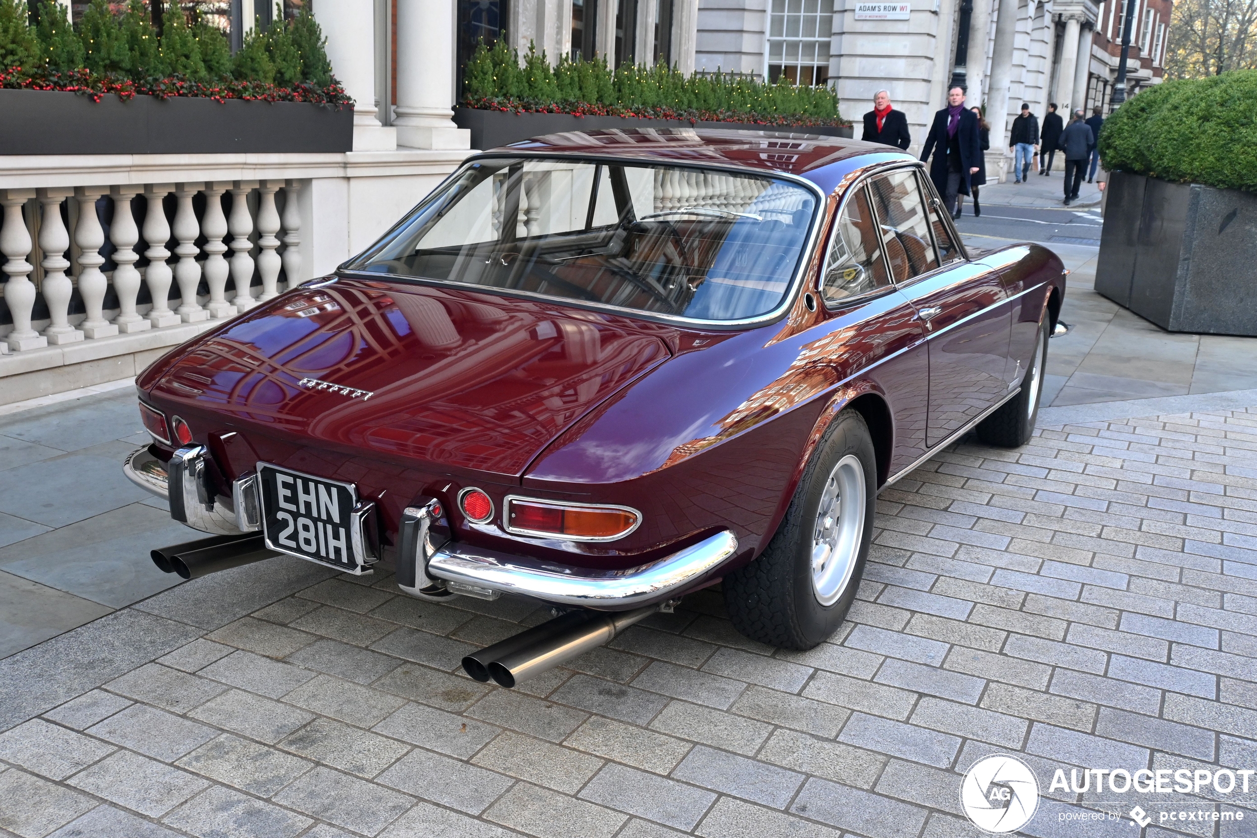
[[[346,266],[349,263],[356,261],[357,259],[360,259],[363,253],[366,253],[371,248],[375,248],[381,240],[383,240],[385,237],[392,235],[392,232],[396,231],[402,225],[402,222],[406,219],[409,219],[410,216],[412,216],[414,214],[416,214],[417,211],[420,211],[422,207],[425,207],[427,204],[430,204],[431,201],[434,201],[435,196],[437,195],[437,192],[440,191],[440,188],[442,186],[445,186],[446,182],[449,182],[450,180],[454,180],[455,177],[461,176],[461,173],[465,170],[470,168],[473,163],[476,163],[476,162],[480,162],[480,161],[485,161],[485,160],[518,160],[518,158],[528,158],[528,160],[567,160],[567,161],[577,160],[577,161],[588,161],[588,162],[592,162],[595,165],[605,163],[605,162],[612,162],[612,163],[623,163],[623,165],[631,165],[631,166],[665,166],[665,167],[672,167],[672,168],[691,168],[691,170],[700,171],[700,172],[722,171],[722,172],[728,172],[730,175],[740,175],[743,177],[757,177],[758,176],[758,177],[764,177],[764,178],[769,178],[769,180],[776,178],[776,180],[788,181],[788,182],[791,182],[791,183],[793,183],[796,186],[802,186],[803,188],[806,188],[807,191],[810,191],[812,193],[812,196],[816,199],[816,209],[812,212],[812,225],[808,229],[807,237],[803,241],[803,246],[801,249],[801,256],[799,256],[799,260],[798,260],[798,265],[794,269],[794,275],[791,278],[789,283],[786,286],[786,293],[782,295],[782,302],[776,308],[773,308],[769,312],[766,312],[763,314],[757,314],[755,317],[750,317],[750,318],[742,318],[742,319],[738,319],[738,320],[704,320],[704,319],[700,319],[700,318],[681,317],[679,314],[660,314],[657,312],[642,312],[640,309],[630,309],[630,308],[623,308],[623,307],[620,307],[620,305],[611,305],[611,304],[607,304],[607,303],[591,303],[588,300],[564,299],[564,298],[559,298],[559,297],[551,297],[548,294],[537,294],[537,293],[533,293],[533,291],[517,290],[517,289],[513,289],[513,288],[490,288],[490,286],[486,286],[486,285],[476,285],[474,283],[458,283],[458,281],[451,281],[451,280],[447,280],[447,279],[430,279],[430,278],[425,278],[425,276],[402,276],[400,274],[376,274],[376,273],[372,273],[372,271],[353,270],[352,268],[347,268]],[[899,163],[900,161],[895,161],[895,162]],[[820,186],[817,186],[812,181],[807,180],[806,177],[801,177],[798,175],[792,175],[792,173],[788,173],[788,172],[766,172],[766,171],[759,171],[759,170],[754,170],[754,168],[745,168],[745,167],[742,167],[742,166],[729,166],[729,165],[724,165],[724,163],[691,163],[691,162],[686,162],[686,161],[659,161],[659,160],[654,160],[654,158],[623,157],[623,156],[618,156],[618,155],[587,155],[587,153],[586,155],[578,155],[578,153],[564,155],[564,153],[556,153],[556,152],[529,152],[529,151],[519,151],[519,152],[509,152],[509,153],[504,153],[502,151],[480,152],[479,155],[473,155],[471,157],[468,157],[466,160],[464,160],[463,163],[456,170],[454,170],[454,172],[451,172],[449,175],[449,177],[446,177],[444,181],[441,181],[441,183],[437,185],[437,187],[435,187],[427,195],[427,197],[425,197],[422,201],[420,201],[419,204],[416,204],[409,212],[406,212],[405,215],[402,215],[402,217],[398,219],[397,224],[395,224],[393,226],[388,227],[388,230],[386,232],[383,232],[382,235],[380,235],[375,241],[372,241],[371,245],[366,250],[363,250],[362,253],[354,255],[352,259],[348,259],[344,263],[342,263],[336,269],[336,273],[341,274],[341,275],[346,275],[346,276],[352,276],[354,279],[367,279],[367,280],[373,280],[373,281],[397,281],[397,280],[401,280],[401,281],[412,281],[412,283],[417,283],[417,284],[421,284],[421,285],[435,285],[437,288],[454,288],[454,289],[458,289],[458,290],[476,291],[476,293],[480,293],[480,294],[497,294],[497,295],[500,295],[500,297],[515,297],[515,298],[523,298],[523,299],[530,299],[530,300],[541,300],[541,302],[549,303],[549,304],[567,305],[567,307],[571,307],[571,308],[590,309],[590,310],[593,310],[593,312],[606,312],[606,313],[617,314],[617,315],[621,315],[621,317],[640,318],[640,319],[645,319],[645,320],[654,320],[654,322],[657,322],[657,323],[667,323],[667,324],[671,324],[671,325],[696,327],[696,328],[700,328],[700,329],[704,329],[704,330],[709,330],[709,332],[727,332],[727,330],[744,329],[744,328],[748,328],[748,327],[766,325],[768,323],[773,323],[776,320],[779,320],[779,319],[782,319],[783,317],[786,317],[789,313],[791,308],[793,308],[794,300],[798,298],[799,290],[801,290],[801,288],[803,285],[803,278],[807,274],[807,266],[812,263],[812,255],[816,253],[817,239],[821,235],[821,227],[825,226],[825,205],[826,205],[826,199],[827,197],[828,196],[821,190]]]

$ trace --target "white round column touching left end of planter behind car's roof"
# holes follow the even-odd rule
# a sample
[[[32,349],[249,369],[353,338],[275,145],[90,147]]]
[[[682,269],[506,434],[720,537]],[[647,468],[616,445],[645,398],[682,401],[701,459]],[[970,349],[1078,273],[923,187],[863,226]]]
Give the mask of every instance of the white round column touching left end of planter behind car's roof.
[[[471,132],[450,119],[453,102],[454,3],[397,0],[397,144],[470,148]]]

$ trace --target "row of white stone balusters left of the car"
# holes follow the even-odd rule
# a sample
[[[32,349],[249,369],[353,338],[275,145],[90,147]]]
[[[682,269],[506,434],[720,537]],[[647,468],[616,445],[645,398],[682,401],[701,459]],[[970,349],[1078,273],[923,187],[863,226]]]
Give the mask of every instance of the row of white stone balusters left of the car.
[[[3,299],[11,322],[0,325],[0,354],[222,319],[309,279],[302,186],[256,180],[0,190]]]

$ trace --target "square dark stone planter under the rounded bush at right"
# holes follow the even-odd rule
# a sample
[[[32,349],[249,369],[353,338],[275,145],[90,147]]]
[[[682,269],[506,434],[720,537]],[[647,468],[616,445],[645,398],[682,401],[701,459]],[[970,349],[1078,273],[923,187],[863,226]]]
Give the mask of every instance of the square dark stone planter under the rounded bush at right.
[[[1169,332],[1257,337],[1257,195],[1109,177],[1095,289]]]

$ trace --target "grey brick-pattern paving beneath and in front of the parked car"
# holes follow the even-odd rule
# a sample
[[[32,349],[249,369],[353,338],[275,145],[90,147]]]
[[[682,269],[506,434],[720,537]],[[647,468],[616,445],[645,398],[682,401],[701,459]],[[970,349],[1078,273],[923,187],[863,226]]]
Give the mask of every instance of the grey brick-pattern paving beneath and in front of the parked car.
[[[1257,768],[1257,408],[969,437],[876,526],[828,643],[706,590],[515,691],[459,656],[534,603],[288,558],[156,593],[0,661],[0,834],[968,837],[963,771],[1011,753],[1024,834],[1139,835],[1063,820],[1105,807],[1053,770]]]

